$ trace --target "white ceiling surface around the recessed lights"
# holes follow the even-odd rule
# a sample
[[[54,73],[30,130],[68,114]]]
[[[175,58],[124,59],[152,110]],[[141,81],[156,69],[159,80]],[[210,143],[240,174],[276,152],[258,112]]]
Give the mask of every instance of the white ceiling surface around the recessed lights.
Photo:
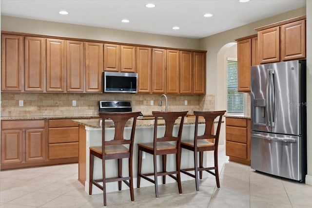
[[[1,0],[1,15],[203,38],[305,5],[306,0]],[[60,10],[69,14],[60,15]],[[214,16],[204,18],[205,13]]]

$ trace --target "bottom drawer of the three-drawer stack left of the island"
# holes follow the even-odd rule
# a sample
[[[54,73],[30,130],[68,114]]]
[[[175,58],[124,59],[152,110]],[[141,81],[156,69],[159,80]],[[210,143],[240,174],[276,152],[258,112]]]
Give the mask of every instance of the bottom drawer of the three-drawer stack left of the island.
[[[49,159],[78,157],[78,142],[49,144]]]

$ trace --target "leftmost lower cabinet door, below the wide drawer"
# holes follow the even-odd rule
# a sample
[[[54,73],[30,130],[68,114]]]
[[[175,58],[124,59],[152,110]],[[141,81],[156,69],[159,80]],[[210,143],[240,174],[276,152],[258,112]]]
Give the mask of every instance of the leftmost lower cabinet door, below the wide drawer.
[[[1,164],[21,163],[22,150],[22,130],[1,131]]]

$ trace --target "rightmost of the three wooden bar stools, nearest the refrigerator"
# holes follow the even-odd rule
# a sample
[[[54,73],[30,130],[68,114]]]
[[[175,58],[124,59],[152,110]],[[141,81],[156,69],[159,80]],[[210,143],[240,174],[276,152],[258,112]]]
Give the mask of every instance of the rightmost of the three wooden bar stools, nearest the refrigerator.
[[[194,151],[194,168],[183,169],[181,172],[192,176],[195,178],[195,185],[196,190],[199,190],[198,185],[198,171],[200,172],[200,179],[202,179],[202,171],[206,170],[207,172],[215,175],[216,186],[220,188],[219,182],[219,172],[218,172],[218,142],[219,142],[219,134],[220,134],[220,127],[222,116],[226,111],[212,111],[212,112],[204,112],[204,111],[194,111],[196,116],[195,118],[195,136],[194,139],[191,140],[183,140],[181,141],[181,148]],[[198,135],[198,117],[203,116],[205,119],[205,132],[203,135]],[[212,128],[214,125],[215,119],[218,118],[218,125],[216,128],[216,133],[212,134]],[[207,141],[207,139],[214,139],[213,142]],[[215,166],[214,167],[203,167],[203,152],[204,151],[214,151],[214,159],[215,159]],[[199,152],[199,167],[197,165],[197,152]],[[188,171],[194,170],[195,174],[192,174]],[[211,170],[215,170],[212,172]]]

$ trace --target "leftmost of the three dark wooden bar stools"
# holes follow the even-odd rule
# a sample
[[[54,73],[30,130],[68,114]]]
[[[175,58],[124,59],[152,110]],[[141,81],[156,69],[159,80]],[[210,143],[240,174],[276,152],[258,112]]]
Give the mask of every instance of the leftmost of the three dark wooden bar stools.
[[[106,183],[118,181],[118,189],[121,190],[121,181],[123,181],[130,188],[131,201],[134,201],[133,193],[133,174],[132,174],[132,153],[133,144],[136,131],[137,116],[141,112],[130,112],[130,113],[99,113],[102,120],[102,146],[90,147],[90,180],[89,180],[89,194],[92,194],[92,185],[94,184],[99,189],[103,190],[104,206],[106,206]],[[132,130],[130,139],[123,138],[123,132],[126,123],[129,119],[133,118]],[[105,138],[105,120],[113,120],[115,126],[114,138]],[[129,148],[124,145],[129,145]],[[103,178],[99,180],[93,180],[93,167],[94,157],[98,157],[102,160],[102,172]],[[122,159],[129,158],[129,176],[123,177],[122,174]],[[105,177],[105,160],[117,159],[118,160],[118,176],[115,178]],[[129,180],[129,182],[127,181]],[[99,184],[103,182],[103,186]]]

